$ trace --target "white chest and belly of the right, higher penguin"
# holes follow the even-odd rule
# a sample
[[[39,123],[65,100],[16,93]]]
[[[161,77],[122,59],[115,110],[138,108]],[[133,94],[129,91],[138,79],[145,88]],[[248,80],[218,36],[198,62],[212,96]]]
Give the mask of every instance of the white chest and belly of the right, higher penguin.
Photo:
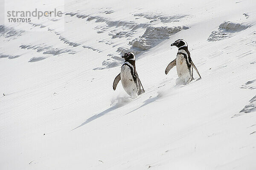
[[[189,72],[186,60],[184,58],[184,55],[182,55],[182,54],[177,55],[176,69],[177,69],[177,74],[180,79],[184,80],[185,82],[189,81],[189,79],[191,79],[191,74]]]

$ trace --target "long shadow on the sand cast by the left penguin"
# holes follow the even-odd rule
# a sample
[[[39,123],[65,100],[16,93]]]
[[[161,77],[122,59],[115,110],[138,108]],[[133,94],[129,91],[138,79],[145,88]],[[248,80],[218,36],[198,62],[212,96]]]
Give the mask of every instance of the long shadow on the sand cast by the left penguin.
[[[91,121],[94,121],[97,118],[102,117],[103,115],[107,114],[108,112],[111,112],[115,109],[123,107],[126,104],[130,103],[131,101],[132,101],[132,99],[129,98],[129,97],[120,97],[120,96],[118,96],[117,98],[112,99],[112,101],[111,101],[112,107],[104,110],[103,112],[100,112],[96,115],[91,116],[90,118],[86,119],[82,124],[80,124],[78,127],[74,128],[73,130],[75,130],[75,129],[81,127],[81,126],[84,126],[84,125],[90,123]],[[71,131],[73,131],[73,130],[71,130]]]

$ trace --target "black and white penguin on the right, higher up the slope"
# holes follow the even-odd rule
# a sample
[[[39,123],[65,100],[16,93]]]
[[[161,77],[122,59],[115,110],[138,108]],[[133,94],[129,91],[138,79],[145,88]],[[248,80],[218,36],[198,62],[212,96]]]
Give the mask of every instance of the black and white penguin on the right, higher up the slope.
[[[177,46],[178,52],[177,57],[174,61],[169,63],[166,67],[166,75],[172,69],[172,67],[176,66],[177,74],[179,76],[179,80],[176,81],[176,84],[188,84],[190,81],[194,80],[193,78],[193,67],[195,71],[198,73],[201,78],[198,69],[195,67],[195,64],[192,62],[190,58],[190,52],[188,50],[188,45],[185,40],[179,39],[176,40],[171,46]]]

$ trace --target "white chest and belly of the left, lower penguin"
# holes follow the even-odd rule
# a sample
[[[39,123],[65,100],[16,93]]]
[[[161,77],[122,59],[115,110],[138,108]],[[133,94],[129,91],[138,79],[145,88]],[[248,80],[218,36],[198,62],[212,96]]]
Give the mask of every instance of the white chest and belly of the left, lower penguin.
[[[132,69],[131,69],[132,68]],[[121,82],[122,86],[125,89],[125,92],[128,93],[132,98],[136,98],[138,94],[138,82],[137,79],[134,82],[134,77],[132,76],[134,74],[133,66],[127,66],[123,65],[121,67]]]

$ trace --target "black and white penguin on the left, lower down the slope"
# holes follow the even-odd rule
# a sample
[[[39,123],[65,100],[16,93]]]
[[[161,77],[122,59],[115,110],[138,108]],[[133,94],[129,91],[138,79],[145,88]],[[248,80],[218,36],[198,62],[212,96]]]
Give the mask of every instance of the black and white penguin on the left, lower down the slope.
[[[122,58],[125,59],[125,62],[121,67],[121,72],[116,76],[113,82],[113,89],[116,90],[116,86],[121,80],[125,92],[127,92],[132,99],[135,99],[138,95],[145,92],[136,72],[135,55],[132,52],[126,52]]]

